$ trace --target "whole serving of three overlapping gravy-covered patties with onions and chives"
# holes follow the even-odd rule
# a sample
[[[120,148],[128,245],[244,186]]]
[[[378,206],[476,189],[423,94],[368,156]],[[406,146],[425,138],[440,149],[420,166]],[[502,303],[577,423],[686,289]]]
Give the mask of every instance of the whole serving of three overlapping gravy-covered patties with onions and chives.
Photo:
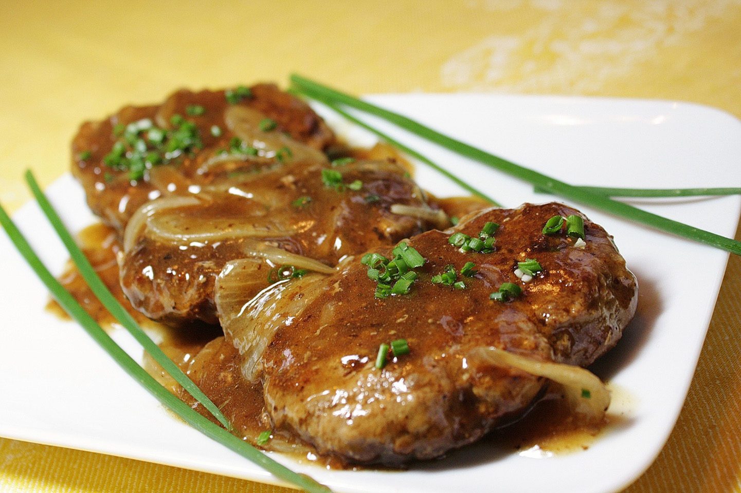
[[[124,294],[175,334],[221,326],[168,352],[233,431],[272,432],[260,446],[398,466],[478,440],[548,389],[605,412],[582,367],[619,340],[637,284],[576,209],[434,198],[270,84],[124,108],[84,124],[73,155],[116,230]]]

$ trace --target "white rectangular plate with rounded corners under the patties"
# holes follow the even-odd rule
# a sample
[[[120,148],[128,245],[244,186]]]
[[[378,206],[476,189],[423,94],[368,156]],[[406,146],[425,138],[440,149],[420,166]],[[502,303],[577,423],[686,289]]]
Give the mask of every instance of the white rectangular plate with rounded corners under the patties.
[[[739,187],[741,124],[693,104],[509,95],[382,95],[379,104],[519,164],[574,184],[614,187]],[[345,126],[342,126],[345,128]],[[367,139],[357,130],[348,135]],[[402,137],[405,135],[401,134]],[[408,138],[411,147],[471,180],[507,207],[543,202],[531,187]],[[460,190],[419,168],[439,195]],[[48,190],[73,229],[93,220],[69,176]],[[640,207],[733,235],[738,196],[634,201]],[[577,206],[578,207],[578,206]],[[638,314],[595,371],[622,389],[622,425],[584,452],[534,458],[479,444],[405,472],[326,471],[296,466],[336,492],[606,493],[654,460],[679,414],[708,328],[728,255],[581,208],[614,235],[639,279]],[[67,255],[33,204],[15,216],[56,272]],[[47,294],[0,235],[0,435],[274,482],[247,460],[174,419],[74,323],[44,311]],[[117,340],[137,358],[122,331]]]

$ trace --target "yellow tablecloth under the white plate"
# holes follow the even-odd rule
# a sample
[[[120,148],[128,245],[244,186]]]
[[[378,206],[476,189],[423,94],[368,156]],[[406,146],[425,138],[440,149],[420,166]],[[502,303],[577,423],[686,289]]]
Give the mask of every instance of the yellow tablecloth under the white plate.
[[[665,98],[741,117],[740,26],[740,0],[4,1],[0,201],[27,201],[27,167],[44,185],[67,170],[85,119],[294,71],[353,93]],[[677,427],[628,492],[741,492],[740,312],[732,257]],[[0,491],[289,490],[0,439]]]

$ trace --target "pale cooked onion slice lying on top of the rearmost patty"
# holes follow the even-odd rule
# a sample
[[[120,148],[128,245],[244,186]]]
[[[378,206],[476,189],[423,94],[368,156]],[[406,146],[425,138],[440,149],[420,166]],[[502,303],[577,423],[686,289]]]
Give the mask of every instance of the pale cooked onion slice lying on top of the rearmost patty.
[[[227,128],[246,144],[265,152],[267,157],[272,157],[271,154],[274,155],[288,147],[294,160],[320,163],[327,161],[327,156],[323,152],[302,144],[282,132],[260,130],[260,122],[264,119],[263,113],[242,105],[230,106],[224,112]]]

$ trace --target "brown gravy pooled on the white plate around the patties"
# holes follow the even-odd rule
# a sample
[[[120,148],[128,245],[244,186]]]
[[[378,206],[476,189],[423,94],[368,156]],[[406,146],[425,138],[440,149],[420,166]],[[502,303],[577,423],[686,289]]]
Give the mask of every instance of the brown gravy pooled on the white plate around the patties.
[[[445,204],[443,207],[446,209],[450,208],[451,212],[468,212],[476,205],[465,200],[459,204],[450,199],[441,201],[441,203]],[[262,385],[249,383],[242,378],[239,354],[230,343],[221,337],[219,327],[214,327],[213,331],[204,331],[202,327],[193,331],[175,330],[149,321],[144,315],[130,307],[119,285],[119,269],[116,262],[119,246],[113,229],[102,224],[95,224],[80,233],[79,243],[96,272],[119,302],[127,306],[127,310],[142,326],[156,330],[162,339],[161,346],[165,353],[199,385],[205,394],[216,403],[216,406],[219,406],[219,409],[222,409],[222,412],[233,423],[233,432],[236,435],[263,449],[288,453],[296,460],[318,463],[321,466],[336,469],[356,467],[348,465],[337,457],[322,456],[312,446],[300,442],[285,432],[273,430],[270,440],[258,445],[259,435],[270,430],[270,420],[263,409]],[[112,316],[94,297],[82,276],[71,263],[67,266],[60,281],[96,321],[109,329],[113,326],[115,321]],[[51,301],[48,307],[51,311],[64,315],[56,302]],[[193,409],[210,417],[199,403],[187,395],[147,355],[144,355],[144,368],[167,389],[193,406]],[[599,435],[619,426],[619,423],[625,419],[622,413],[608,413],[602,423],[584,423],[574,417],[570,411],[559,389],[551,386],[525,416],[491,432],[488,435],[488,443],[496,449],[504,449],[528,457],[560,455],[587,449]],[[213,420],[213,417],[210,418]]]

